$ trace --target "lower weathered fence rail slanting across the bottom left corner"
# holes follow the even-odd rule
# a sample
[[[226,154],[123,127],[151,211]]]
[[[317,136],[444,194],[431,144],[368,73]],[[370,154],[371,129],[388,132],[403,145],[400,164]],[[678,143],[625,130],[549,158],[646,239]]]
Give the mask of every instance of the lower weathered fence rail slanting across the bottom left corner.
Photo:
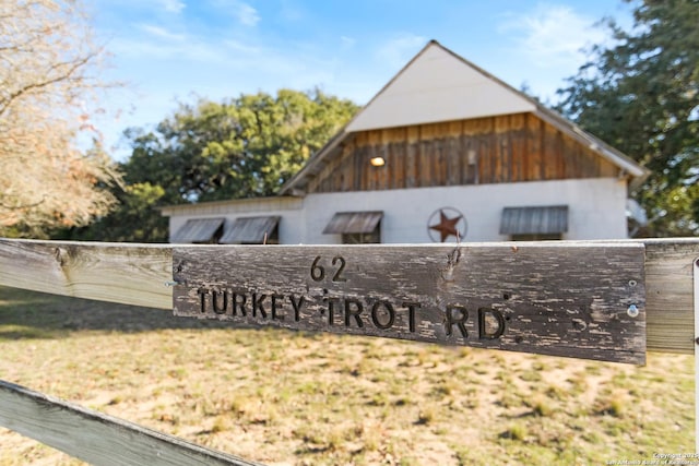
[[[94,465],[253,465],[0,381],[0,426]]]

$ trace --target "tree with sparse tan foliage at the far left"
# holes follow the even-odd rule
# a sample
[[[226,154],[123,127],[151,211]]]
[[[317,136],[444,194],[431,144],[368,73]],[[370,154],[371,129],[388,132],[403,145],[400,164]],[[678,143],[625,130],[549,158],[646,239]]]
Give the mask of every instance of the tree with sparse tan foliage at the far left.
[[[118,180],[108,156],[86,154],[93,45],[78,1],[0,0],[0,231],[40,234],[87,223],[114,204]]]

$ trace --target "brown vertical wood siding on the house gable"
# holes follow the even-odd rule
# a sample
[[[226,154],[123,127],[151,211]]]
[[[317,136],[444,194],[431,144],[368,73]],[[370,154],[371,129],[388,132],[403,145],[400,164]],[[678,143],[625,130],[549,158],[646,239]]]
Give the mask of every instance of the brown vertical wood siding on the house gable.
[[[619,167],[533,113],[351,134],[306,192],[604,178]],[[382,157],[383,166],[370,164]]]

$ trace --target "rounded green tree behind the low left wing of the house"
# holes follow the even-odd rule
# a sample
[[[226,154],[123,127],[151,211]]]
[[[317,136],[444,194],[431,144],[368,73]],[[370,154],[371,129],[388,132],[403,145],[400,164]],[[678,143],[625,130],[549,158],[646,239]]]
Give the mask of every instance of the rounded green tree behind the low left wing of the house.
[[[166,241],[158,206],[273,195],[356,110],[318,89],[180,104],[155,131],[127,131],[121,206],[72,237]]]

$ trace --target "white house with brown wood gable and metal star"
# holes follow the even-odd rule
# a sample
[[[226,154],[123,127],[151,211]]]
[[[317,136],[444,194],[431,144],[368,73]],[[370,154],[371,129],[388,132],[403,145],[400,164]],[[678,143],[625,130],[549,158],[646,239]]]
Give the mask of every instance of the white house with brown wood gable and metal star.
[[[171,242],[627,237],[645,170],[437,41],[279,196],[163,208]]]

